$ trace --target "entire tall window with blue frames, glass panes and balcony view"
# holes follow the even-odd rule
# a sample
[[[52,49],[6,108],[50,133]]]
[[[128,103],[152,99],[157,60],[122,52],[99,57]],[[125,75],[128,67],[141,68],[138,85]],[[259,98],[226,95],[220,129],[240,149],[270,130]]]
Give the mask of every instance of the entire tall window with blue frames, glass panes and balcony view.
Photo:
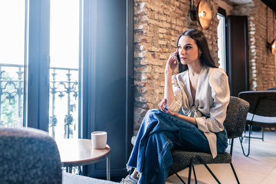
[[[33,127],[56,140],[106,131],[116,158],[112,173],[125,175],[133,1],[1,0],[0,23],[0,126]],[[83,173],[105,176],[106,165]]]

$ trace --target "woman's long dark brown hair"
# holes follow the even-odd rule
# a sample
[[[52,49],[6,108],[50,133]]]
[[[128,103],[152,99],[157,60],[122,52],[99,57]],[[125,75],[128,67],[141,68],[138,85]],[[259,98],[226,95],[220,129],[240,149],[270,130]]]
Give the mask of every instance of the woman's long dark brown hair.
[[[203,32],[201,32],[200,30],[195,30],[195,29],[190,29],[190,30],[186,30],[186,31],[182,32],[179,35],[179,37],[177,38],[177,42],[176,42],[177,46],[178,46],[179,39],[182,36],[190,37],[191,39],[195,40],[195,43],[197,44],[197,48],[199,50],[201,50],[201,55],[199,57],[199,60],[202,65],[207,65],[212,68],[217,68],[217,66],[215,65],[215,62],[213,61],[213,59],[211,57],[208,43],[207,43],[206,37]],[[179,57],[179,55],[177,57]],[[180,61],[179,58],[178,58],[178,60]],[[179,70],[179,73],[184,72],[184,71],[188,70],[188,66],[182,65],[181,63],[179,63],[178,70]]]

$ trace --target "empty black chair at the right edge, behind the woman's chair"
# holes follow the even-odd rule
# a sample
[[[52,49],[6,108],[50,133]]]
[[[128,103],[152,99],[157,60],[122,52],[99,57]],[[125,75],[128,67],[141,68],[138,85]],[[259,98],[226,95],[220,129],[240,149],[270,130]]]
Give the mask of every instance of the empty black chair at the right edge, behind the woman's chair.
[[[250,108],[246,118],[246,125],[248,125],[248,136],[246,134],[240,139],[242,141],[244,137],[248,138],[248,153],[244,152],[244,146],[242,145],[242,152],[244,156],[250,154],[250,139],[262,139],[264,141],[264,128],[276,127],[276,91],[248,91],[240,92],[239,98],[248,101]],[[262,137],[250,136],[252,133],[252,127],[262,127]],[[246,133],[246,129],[244,130]]]

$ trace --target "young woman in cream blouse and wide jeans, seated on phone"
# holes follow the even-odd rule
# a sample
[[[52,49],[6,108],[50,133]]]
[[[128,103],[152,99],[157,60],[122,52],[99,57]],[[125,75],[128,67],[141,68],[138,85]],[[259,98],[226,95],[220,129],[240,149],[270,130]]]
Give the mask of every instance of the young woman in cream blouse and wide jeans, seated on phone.
[[[172,76],[177,65],[179,74]],[[148,110],[144,117],[127,164],[135,170],[121,183],[165,183],[174,146],[208,152],[213,158],[224,152],[229,100],[228,76],[215,66],[204,33],[181,33],[166,64],[160,110]]]

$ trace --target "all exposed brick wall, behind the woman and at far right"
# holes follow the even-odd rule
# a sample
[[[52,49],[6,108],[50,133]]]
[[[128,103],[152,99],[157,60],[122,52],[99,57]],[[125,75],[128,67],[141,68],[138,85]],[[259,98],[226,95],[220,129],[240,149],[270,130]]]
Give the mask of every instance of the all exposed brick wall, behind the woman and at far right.
[[[196,21],[190,19],[190,0],[134,0],[134,2],[134,130],[136,134],[146,112],[149,109],[158,108],[159,101],[163,99],[166,61],[176,50],[177,37],[188,28],[202,29]],[[194,0],[194,5],[198,2]],[[218,5],[217,0],[208,2],[213,10],[213,21],[208,30],[202,31],[207,37],[211,55],[217,63]],[[257,11],[254,14],[255,10]],[[257,18],[257,14],[263,14],[263,11],[266,11],[266,6],[261,0],[254,0],[253,3],[245,6],[236,6],[233,10],[233,14],[249,15],[250,88],[253,90],[266,89],[275,85],[274,60],[271,54],[266,53],[265,44],[262,45],[266,38],[266,18],[264,16]],[[273,25],[271,24],[273,23],[272,10],[270,10],[270,16],[271,26]],[[259,22],[262,23],[258,25]],[[270,41],[272,41],[273,30],[270,32]],[[259,34],[262,34],[262,37],[256,36]]]

